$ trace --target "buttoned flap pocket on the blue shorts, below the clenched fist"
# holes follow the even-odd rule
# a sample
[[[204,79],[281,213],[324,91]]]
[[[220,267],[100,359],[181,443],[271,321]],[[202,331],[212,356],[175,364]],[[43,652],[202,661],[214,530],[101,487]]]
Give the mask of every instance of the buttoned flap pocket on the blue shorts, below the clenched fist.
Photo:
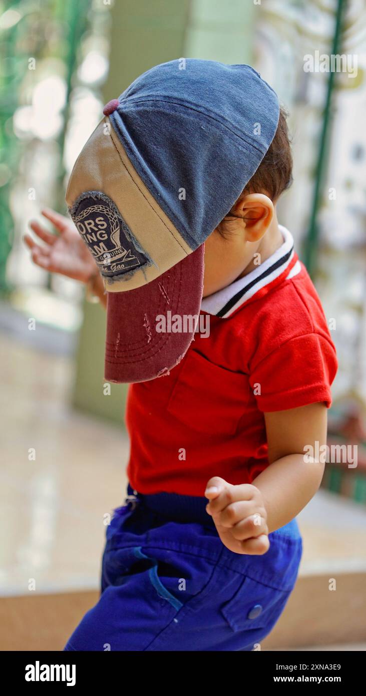
[[[280,617],[289,594],[246,577],[232,599],[223,604],[221,613],[232,631],[270,629]]]

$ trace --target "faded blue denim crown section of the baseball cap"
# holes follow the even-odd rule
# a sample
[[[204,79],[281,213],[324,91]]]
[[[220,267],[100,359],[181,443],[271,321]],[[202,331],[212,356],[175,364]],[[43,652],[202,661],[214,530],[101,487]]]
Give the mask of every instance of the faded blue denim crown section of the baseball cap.
[[[195,58],[138,77],[111,113],[152,196],[192,249],[236,202],[276,133],[278,97],[249,65]]]

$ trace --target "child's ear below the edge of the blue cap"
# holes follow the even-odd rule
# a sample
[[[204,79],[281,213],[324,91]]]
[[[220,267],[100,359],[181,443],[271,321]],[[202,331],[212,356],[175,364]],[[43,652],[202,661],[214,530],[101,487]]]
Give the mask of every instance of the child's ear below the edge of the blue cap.
[[[241,219],[246,242],[259,242],[273,220],[273,203],[264,193],[248,193],[237,201],[232,214]]]

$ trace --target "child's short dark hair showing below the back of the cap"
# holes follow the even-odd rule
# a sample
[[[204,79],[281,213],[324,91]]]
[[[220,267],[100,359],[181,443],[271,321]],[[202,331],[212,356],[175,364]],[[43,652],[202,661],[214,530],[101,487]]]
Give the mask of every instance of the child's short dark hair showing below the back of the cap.
[[[269,145],[269,149],[264,155],[260,166],[248,181],[248,184],[246,184],[238,200],[248,193],[266,193],[274,203],[281,193],[291,186],[292,153],[287,128],[287,116],[287,111],[281,106],[280,118],[278,119],[278,126],[273,141]],[[226,217],[230,216],[232,217],[229,212],[217,226],[218,232],[223,237],[225,237],[225,232],[230,232],[230,221],[226,221]]]

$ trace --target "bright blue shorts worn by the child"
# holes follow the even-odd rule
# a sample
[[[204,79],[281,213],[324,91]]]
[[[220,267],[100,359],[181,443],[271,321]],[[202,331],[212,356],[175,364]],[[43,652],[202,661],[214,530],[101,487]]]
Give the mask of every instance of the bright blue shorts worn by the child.
[[[106,529],[100,599],[65,650],[257,649],[296,581],[296,519],[269,535],[264,555],[249,556],[223,545],[206,498],[138,493],[125,502]]]

